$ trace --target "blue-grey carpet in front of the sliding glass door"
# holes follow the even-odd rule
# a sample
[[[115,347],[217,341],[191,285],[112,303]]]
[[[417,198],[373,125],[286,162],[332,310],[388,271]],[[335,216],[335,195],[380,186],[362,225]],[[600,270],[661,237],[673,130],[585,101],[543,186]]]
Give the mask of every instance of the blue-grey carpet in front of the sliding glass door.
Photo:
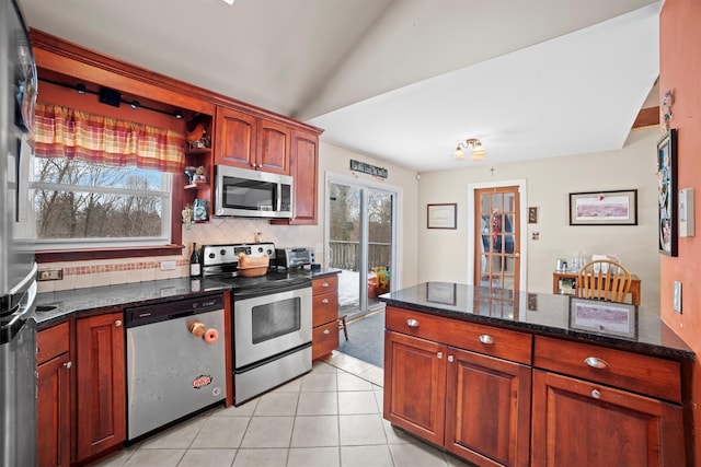
[[[348,323],[348,340],[341,331],[338,352],[358,360],[384,366],[384,311]]]

